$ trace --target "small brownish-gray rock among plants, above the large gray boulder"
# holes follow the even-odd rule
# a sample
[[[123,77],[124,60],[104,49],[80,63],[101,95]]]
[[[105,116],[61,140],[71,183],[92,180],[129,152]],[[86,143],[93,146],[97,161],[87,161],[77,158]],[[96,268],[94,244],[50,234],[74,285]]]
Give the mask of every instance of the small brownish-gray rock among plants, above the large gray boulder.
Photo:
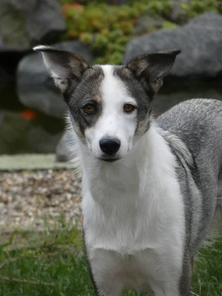
[[[153,17],[150,15],[140,16],[135,24],[133,35],[142,35],[148,33],[152,29],[160,29],[164,20],[161,17]]]

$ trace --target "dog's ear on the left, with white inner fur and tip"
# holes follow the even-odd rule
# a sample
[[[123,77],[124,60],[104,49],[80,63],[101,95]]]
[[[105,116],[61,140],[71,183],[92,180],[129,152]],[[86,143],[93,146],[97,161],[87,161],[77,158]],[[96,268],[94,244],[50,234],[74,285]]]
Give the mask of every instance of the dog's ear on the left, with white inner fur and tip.
[[[77,54],[44,45],[38,45],[33,49],[41,51],[46,69],[63,93],[70,83],[77,85],[83,72],[90,68]]]

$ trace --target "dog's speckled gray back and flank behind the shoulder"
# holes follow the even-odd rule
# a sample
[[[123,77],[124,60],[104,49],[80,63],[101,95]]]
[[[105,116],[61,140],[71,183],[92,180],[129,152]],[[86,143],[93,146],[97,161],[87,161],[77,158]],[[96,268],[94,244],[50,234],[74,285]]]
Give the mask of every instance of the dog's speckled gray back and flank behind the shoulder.
[[[179,137],[192,155],[193,167],[190,172],[202,199],[201,221],[196,231],[206,233],[207,224],[215,215],[216,204],[219,211],[222,209],[222,101],[185,101],[160,115],[156,122],[163,130]],[[189,195],[185,204],[192,216],[197,200],[191,192]],[[193,212],[193,215],[197,214]],[[193,223],[194,218],[191,217],[189,222]],[[206,231],[203,231],[205,228]],[[199,237],[196,244],[201,239]]]

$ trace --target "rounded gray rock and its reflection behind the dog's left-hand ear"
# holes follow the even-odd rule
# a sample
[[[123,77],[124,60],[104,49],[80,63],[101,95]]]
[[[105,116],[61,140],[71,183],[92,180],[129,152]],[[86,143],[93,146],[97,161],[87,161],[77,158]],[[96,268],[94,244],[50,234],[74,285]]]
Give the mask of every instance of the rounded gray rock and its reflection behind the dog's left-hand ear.
[[[89,64],[94,59],[90,48],[78,40],[64,41],[52,46],[77,53]],[[20,61],[17,69],[17,93],[24,106],[47,115],[63,118],[67,110],[60,91],[45,69],[40,52],[29,54]]]

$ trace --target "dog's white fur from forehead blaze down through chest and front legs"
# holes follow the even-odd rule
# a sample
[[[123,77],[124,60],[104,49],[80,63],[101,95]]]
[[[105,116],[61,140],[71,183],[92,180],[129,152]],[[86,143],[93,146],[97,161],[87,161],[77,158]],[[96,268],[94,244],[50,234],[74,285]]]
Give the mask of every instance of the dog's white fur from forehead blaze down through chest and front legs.
[[[124,289],[178,296],[185,217],[176,161],[153,124],[133,141],[136,117],[122,114],[122,106],[136,102],[109,67],[103,69],[104,112],[86,132],[87,146],[77,138],[75,144],[83,170],[83,227],[93,276],[103,296],[120,296]],[[106,134],[125,145],[124,157],[113,163],[97,159],[98,142]]]

